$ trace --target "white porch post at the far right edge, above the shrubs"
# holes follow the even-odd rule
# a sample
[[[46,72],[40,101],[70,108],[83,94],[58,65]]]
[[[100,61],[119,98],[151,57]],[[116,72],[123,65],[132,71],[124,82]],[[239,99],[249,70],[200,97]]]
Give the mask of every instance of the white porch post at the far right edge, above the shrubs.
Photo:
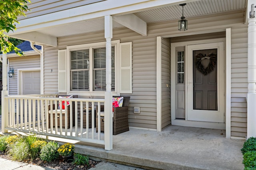
[[[256,137],[256,18],[249,16],[251,7],[255,6],[252,2],[256,1],[248,1],[247,138]]]

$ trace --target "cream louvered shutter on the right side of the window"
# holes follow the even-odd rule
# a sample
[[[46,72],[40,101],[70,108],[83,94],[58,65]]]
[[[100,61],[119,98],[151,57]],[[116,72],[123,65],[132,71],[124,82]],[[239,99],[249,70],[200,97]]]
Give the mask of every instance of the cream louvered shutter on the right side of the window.
[[[132,42],[120,43],[120,93],[132,93]]]

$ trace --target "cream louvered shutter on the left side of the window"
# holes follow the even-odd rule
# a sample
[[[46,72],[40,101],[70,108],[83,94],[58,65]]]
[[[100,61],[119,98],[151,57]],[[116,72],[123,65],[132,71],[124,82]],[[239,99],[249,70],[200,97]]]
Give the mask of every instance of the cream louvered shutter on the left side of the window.
[[[58,92],[67,92],[66,49],[58,50]]]

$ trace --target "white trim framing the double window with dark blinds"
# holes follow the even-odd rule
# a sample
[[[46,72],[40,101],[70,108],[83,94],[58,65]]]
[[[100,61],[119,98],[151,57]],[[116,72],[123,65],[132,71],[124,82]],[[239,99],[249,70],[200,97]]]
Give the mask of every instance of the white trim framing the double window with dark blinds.
[[[119,86],[119,81],[120,77],[118,76],[118,70],[120,70],[120,40],[114,40],[111,41],[111,45],[115,45],[115,91],[112,91],[113,95],[120,95],[120,86]],[[92,49],[97,48],[97,47],[106,47],[106,41],[100,42],[100,43],[89,43],[89,44],[81,44],[81,45],[71,45],[67,46],[67,62],[66,62],[66,68],[67,68],[67,74],[66,74],[66,80],[67,80],[67,94],[72,95],[72,94],[81,94],[81,96],[104,96],[106,91],[93,91],[93,66],[92,66]],[[76,90],[70,90],[70,51],[76,51],[76,50],[82,50],[82,49],[90,49],[90,81],[89,86],[90,90],[89,91],[76,91]]]

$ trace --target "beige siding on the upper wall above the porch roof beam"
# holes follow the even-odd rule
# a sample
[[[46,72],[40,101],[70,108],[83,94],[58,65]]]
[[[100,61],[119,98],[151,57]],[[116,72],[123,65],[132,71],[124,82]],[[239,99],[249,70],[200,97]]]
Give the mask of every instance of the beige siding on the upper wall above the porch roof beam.
[[[50,14],[52,12],[67,10],[100,1],[103,0],[31,0],[31,3],[28,3],[28,9],[30,9],[30,11],[26,13],[26,18]],[[18,20],[24,18],[24,16],[19,16]]]

